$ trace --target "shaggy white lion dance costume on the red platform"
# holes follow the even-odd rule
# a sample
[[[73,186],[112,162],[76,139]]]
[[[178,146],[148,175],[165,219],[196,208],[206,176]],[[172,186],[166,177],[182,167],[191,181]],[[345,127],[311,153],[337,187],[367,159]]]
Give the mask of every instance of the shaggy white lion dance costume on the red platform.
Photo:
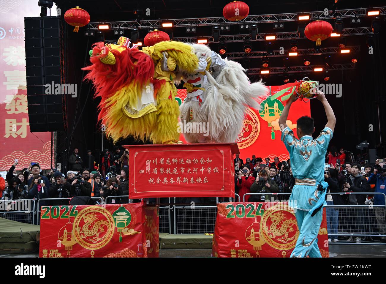
[[[187,97],[180,118],[181,122],[208,122],[209,135],[184,133],[185,139],[190,143],[234,142],[247,107],[259,109],[268,89],[261,80],[251,83],[239,63],[223,60],[204,44],[192,46],[199,63],[195,73],[182,73]]]

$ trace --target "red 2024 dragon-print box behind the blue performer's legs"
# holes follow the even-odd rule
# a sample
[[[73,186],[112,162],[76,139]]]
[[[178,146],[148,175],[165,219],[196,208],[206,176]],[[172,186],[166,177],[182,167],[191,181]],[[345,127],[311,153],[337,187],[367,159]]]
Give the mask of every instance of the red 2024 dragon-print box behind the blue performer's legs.
[[[215,257],[289,257],[298,235],[287,202],[219,203],[212,252]],[[318,234],[322,257],[328,257],[327,238],[324,209]]]

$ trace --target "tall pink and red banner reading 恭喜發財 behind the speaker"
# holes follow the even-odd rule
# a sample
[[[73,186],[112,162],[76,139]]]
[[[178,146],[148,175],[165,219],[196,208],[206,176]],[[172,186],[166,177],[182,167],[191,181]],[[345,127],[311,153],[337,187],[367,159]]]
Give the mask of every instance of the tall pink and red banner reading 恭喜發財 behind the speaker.
[[[52,8],[56,14],[56,6]],[[28,119],[24,17],[38,16],[40,7],[30,0],[7,1],[0,6],[0,171],[16,170],[39,162],[51,168],[51,133],[31,133]]]

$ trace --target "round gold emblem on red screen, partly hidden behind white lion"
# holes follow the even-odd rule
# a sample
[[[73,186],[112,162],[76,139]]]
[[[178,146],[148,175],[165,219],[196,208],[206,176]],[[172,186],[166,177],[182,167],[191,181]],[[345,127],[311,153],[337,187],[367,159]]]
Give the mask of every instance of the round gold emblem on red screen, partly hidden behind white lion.
[[[237,146],[239,149],[247,148],[252,145],[260,133],[259,118],[252,109],[248,108],[244,117],[243,126],[237,138]]]

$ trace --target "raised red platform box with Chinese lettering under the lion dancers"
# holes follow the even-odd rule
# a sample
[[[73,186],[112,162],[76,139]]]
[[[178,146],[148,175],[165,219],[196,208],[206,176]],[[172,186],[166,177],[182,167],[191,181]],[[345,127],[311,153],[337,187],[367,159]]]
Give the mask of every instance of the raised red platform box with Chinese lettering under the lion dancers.
[[[236,143],[124,145],[129,197],[234,197]]]

